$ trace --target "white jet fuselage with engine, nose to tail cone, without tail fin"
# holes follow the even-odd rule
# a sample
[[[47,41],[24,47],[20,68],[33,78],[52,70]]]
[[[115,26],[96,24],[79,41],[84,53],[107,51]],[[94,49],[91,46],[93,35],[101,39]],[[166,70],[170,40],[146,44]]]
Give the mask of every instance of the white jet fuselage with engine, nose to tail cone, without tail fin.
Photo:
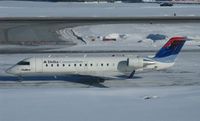
[[[7,72],[22,76],[44,74],[105,76],[119,73],[130,75],[136,70],[160,70],[172,65],[152,60],[144,62],[143,58],[138,57],[33,57],[20,61]]]

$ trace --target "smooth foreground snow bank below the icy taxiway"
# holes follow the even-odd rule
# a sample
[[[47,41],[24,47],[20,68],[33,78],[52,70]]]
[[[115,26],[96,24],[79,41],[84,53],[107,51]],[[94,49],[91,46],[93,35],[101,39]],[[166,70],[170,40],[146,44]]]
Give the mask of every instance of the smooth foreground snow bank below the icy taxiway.
[[[200,87],[0,89],[1,121],[197,121]]]

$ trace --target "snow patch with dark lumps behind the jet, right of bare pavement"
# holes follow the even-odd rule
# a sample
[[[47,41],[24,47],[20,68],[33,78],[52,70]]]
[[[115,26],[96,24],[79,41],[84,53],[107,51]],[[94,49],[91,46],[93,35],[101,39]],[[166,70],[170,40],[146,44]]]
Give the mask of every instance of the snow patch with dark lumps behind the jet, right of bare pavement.
[[[73,33],[82,40],[77,40]],[[165,23],[165,24],[107,24],[79,26],[66,28],[57,32],[63,40],[71,38],[76,46],[57,50],[158,50],[173,36],[186,36],[192,41],[187,41],[184,49],[200,49],[200,24],[199,23]],[[125,35],[116,41],[102,41],[100,37],[117,33]],[[164,40],[153,41],[147,39],[149,34],[165,35]],[[76,40],[76,41],[75,41]]]

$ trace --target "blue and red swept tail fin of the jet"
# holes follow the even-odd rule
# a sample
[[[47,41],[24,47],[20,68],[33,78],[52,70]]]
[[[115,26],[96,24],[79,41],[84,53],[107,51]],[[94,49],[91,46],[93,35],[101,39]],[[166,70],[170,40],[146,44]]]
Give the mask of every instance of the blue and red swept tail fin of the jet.
[[[172,37],[154,56],[154,59],[161,62],[174,62],[181,51],[186,37]]]

